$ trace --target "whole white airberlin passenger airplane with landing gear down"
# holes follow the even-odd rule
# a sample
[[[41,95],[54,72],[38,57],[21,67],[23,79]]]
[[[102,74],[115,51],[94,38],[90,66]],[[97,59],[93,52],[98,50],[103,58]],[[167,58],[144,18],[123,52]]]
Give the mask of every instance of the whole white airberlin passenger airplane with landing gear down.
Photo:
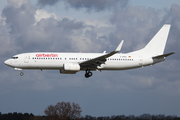
[[[23,76],[23,69],[60,70],[62,74],[76,74],[85,71],[85,77],[93,75],[91,71],[98,70],[127,70],[152,66],[162,62],[175,52],[164,53],[166,41],[171,25],[164,24],[150,42],[142,49],[126,54],[118,53],[124,40],[118,47],[106,53],[61,53],[61,52],[33,52],[14,55],[4,64],[19,70]]]

